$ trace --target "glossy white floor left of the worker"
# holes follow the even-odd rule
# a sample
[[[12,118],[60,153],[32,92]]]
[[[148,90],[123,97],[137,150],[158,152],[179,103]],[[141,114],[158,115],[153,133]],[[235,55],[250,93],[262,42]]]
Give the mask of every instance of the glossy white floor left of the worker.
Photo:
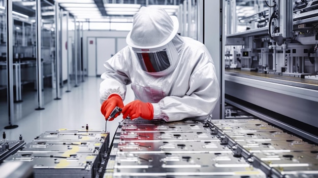
[[[15,129],[3,129],[6,139],[18,140],[20,134],[24,141],[29,143],[36,136],[45,131],[58,129],[83,129],[88,124],[89,129],[105,130],[105,118],[100,112],[99,86],[102,80],[98,77],[88,77],[71,92],[62,90],[60,100],[52,100],[44,105],[45,110],[34,111],[13,123],[18,125]],[[124,104],[134,99],[134,94],[128,86]],[[113,138],[122,115],[114,121],[107,122],[107,131]]]

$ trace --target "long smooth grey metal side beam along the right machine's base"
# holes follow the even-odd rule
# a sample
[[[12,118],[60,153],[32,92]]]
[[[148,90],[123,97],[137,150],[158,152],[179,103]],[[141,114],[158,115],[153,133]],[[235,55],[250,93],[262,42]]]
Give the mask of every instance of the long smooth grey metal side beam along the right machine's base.
[[[308,125],[318,127],[315,116],[318,115],[318,90],[283,85],[279,83],[249,79],[239,76],[225,75],[225,93],[238,99],[255,104],[272,112],[295,119]],[[303,136],[317,143],[316,136],[300,130],[296,126],[271,118],[240,103],[226,100],[250,114],[271,122],[279,127]]]

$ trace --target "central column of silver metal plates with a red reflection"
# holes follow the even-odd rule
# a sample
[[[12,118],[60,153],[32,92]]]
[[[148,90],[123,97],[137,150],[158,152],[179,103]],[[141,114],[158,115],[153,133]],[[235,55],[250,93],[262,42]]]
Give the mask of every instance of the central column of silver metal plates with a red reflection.
[[[266,177],[217,136],[196,120],[123,120],[104,177]]]

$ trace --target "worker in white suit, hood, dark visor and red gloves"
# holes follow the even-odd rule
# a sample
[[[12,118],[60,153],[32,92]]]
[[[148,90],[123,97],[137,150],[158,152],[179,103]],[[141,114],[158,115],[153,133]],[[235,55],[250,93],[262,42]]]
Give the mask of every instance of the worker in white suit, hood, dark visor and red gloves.
[[[178,19],[158,7],[141,7],[134,15],[128,46],[104,63],[100,85],[106,120],[116,106],[123,118],[204,119],[219,98],[215,67],[207,48],[177,34]],[[126,85],[135,100],[124,105]]]

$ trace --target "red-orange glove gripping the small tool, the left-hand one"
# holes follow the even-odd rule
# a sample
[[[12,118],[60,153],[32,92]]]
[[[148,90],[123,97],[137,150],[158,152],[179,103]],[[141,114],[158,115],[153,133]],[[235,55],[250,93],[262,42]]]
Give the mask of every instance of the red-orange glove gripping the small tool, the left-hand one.
[[[116,108],[116,106],[118,106],[119,108],[123,108],[122,99],[118,94],[111,94],[101,106],[101,112],[105,116],[105,120],[109,118],[109,115]],[[120,113],[116,114],[116,116],[109,119],[109,121],[114,120],[119,114]]]

